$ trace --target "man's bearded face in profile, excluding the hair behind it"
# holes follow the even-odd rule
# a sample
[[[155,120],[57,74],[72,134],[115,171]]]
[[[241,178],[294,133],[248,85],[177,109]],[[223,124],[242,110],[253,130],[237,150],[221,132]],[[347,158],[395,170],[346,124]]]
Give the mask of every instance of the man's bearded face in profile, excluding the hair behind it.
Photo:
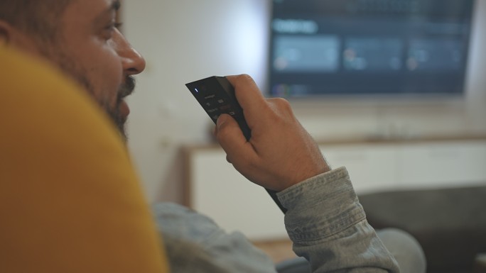
[[[134,74],[145,60],[117,29],[117,0],[72,0],[60,18],[53,43],[39,54],[82,84],[117,124],[123,135],[129,107],[124,101],[134,89]]]

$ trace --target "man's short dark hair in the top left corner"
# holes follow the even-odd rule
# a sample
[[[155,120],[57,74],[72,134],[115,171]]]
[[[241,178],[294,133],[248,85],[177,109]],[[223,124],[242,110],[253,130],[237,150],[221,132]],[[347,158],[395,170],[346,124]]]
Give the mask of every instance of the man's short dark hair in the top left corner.
[[[0,0],[0,20],[33,35],[53,40],[60,17],[72,0]]]

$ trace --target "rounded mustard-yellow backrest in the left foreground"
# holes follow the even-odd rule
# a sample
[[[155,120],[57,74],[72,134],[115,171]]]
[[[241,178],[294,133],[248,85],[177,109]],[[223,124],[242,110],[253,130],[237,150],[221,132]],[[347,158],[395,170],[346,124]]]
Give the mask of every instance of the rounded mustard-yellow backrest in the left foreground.
[[[0,272],[168,272],[124,143],[85,91],[0,48]]]

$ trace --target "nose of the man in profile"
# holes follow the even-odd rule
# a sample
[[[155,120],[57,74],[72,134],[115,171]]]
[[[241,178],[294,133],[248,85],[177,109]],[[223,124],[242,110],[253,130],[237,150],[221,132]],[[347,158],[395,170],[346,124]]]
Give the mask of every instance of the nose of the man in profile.
[[[139,74],[144,71],[146,62],[121,33],[118,34],[117,53],[121,58],[121,66],[125,76]]]

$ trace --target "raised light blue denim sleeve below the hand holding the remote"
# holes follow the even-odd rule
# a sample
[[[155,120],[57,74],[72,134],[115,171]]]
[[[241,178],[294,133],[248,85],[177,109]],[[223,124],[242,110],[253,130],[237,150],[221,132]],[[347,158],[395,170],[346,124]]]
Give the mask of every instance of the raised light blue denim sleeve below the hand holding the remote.
[[[347,170],[320,174],[279,192],[293,251],[312,272],[399,272],[357,199]]]

